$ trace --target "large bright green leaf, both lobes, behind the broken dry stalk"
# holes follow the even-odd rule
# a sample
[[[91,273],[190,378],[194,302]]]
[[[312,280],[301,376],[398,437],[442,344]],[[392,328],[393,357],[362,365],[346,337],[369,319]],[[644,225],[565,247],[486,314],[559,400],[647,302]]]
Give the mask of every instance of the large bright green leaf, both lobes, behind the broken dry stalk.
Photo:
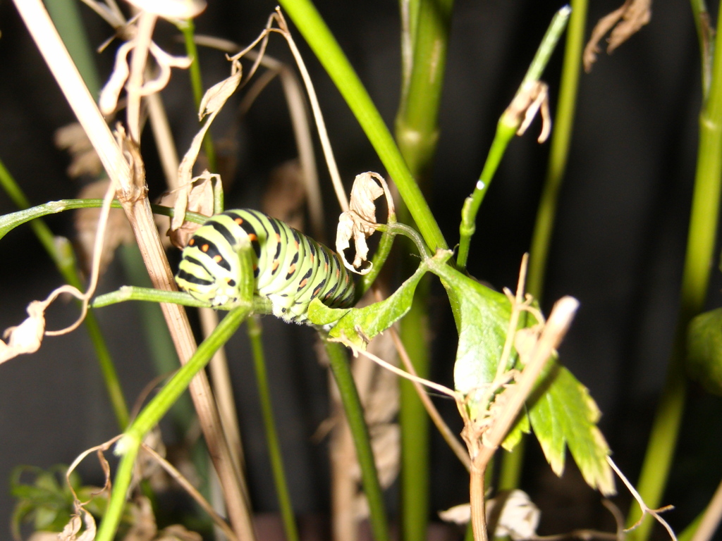
[[[504,294],[448,265],[432,263],[430,271],[442,278],[449,297],[456,302],[454,316],[459,339],[454,385],[466,396],[469,415],[474,418],[482,413],[482,408],[487,408],[478,399],[497,371],[509,326],[510,301]],[[520,327],[535,323],[534,317],[520,318]],[[510,359],[510,364],[515,360]],[[505,449],[513,449],[521,433],[529,431],[531,421],[541,449],[557,475],[564,470],[568,446],[586,482],[603,494],[614,493],[612,469],[606,462],[609,447],[596,426],[599,408],[586,387],[563,366],[549,363],[527,405],[529,419],[520,415],[503,443]]]

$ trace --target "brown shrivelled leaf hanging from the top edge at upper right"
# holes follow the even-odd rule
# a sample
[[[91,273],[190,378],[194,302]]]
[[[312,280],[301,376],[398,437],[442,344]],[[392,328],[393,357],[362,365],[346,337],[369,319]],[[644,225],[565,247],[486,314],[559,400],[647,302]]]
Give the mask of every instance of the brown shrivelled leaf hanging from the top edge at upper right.
[[[652,17],[652,0],[626,0],[619,9],[599,19],[591,32],[589,43],[584,48],[584,71],[589,73],[591,66],[596,62],[596,56],[601,51],[599,42],[606,32],[612,30],[607,40],[606,53],[612,54],[614,49],[625,43],[632,35],[639,32]]]

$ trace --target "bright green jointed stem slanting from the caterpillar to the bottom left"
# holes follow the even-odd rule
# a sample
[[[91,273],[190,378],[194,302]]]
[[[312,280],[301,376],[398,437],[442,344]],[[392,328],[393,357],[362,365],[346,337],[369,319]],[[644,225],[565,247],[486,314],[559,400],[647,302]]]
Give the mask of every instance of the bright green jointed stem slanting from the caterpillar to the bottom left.
[[[188,388],[191,379],[208,364],[217,349],[235,333],[241,322],[248,316],[248,312],[248,307],[238,307],[228,312],[213,333],[198,346],[191,359],[188,359],[188,362],[175,373],[155,398],[143,408],[123,438],[118,441],[116,453],[122,454],[123,458],[118,466],[108,509],[97,532],[97,541],[111,541],[116,533],[125,505],[126,493],[131,483],[134,462],[144,437]]]

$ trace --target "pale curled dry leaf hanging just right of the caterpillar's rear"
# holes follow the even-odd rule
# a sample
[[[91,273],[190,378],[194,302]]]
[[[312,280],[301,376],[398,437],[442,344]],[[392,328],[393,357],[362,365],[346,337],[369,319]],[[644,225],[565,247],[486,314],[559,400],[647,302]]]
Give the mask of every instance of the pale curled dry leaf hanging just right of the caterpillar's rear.
[[[378,173],[369,171],[356,175],[354,185],[351,188],[351,201],[349,210],[339,216],[339,225],[336,228],[336,252],[339,252],[344,265],[349,271],[357,274],[366,274],[371,270],[369,264],[366,268],[360,269],[367,261],[368,245],[366,239],[375,232],[376,205],[374,201],[383,193],[386,193],[386,201],[389,205],[389,214],[393,213],[391,195],[388,193],[386,180]],[[354,262],[349,264],[344,250],[350,246],[350,240],[354,239],[356,255]]]

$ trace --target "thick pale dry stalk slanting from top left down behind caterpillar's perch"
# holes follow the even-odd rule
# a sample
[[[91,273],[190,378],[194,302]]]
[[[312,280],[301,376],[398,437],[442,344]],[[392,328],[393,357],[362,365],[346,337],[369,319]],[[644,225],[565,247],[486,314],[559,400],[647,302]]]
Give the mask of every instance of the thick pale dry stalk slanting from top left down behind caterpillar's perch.
[[[131,176],[131,164],[126,161],[120,146],[105,124],[103,115],[100,114],[90,92],[82,82],[82,78],[43,4],[40,0],[15,0],[14,3],[66,100],[88,134],[101,162],[103,162],[103,167],[111,180],[116,182],[119,187],[118,198],[121,199],[136,234],[153,285],[157,289],[175,289],[173,275],[170,272],[168,260],[165,258],[165,252],[162,249],[146,197],[142,160],[137,154],[135,145],[127,146],[127,150],[131,153],[132,166],[135,167]],[[134,159],[132,154],[136,154]],[[185,363],[196,349],[186,312],[175,304],[161,304],[161,309],[173,337],[178,358]],[[232,465],[227,442],[219,431],[218,413],[204,372],[201,371],[193,379],[190,390],[209,453],[224,489],[227,510],[233,528],[240,539],[253,540],[255,535],[251,525],[248,503],[241,492],[239,475]]]

